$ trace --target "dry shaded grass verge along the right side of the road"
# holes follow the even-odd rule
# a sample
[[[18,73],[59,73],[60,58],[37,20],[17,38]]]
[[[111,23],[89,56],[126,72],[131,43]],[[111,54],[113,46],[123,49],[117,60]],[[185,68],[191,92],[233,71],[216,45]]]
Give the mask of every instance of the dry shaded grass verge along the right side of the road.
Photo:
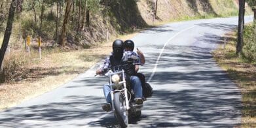
[[[256,127],[256,63],[236,57],[236,33],[225,35],[228,42],[213,55],[242,90],[242,127]]]

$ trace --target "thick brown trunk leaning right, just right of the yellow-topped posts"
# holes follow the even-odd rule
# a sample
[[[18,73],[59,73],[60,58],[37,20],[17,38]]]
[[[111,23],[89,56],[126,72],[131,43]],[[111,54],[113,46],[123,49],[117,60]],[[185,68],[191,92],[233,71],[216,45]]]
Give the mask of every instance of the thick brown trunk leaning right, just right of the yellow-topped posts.
[[[65,27],[67,25],[68,19],[69,19],[69,13],[72,6],[73,0],[67,0],[67,7],[65,9],[65,16],[64,16],[64,22],[62,26],[62,35],[60,36],[60,44],[62,46],[65,46]]]

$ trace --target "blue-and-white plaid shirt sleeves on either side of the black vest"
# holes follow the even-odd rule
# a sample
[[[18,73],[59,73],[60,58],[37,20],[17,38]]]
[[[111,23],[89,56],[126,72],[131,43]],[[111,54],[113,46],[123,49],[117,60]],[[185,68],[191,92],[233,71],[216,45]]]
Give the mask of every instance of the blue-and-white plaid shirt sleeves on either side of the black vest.
[[[113,56],[113,53],[111,53],[111,56]],[[136,54],[136,52],[124,52],[122,60],[128,60],[130,58],[134,60],[133,63],[140,63],[140,57]],[[111,69],[110,56],[105,59],[104,65],[100,67],[101,72],[107,72],[109,69]]]

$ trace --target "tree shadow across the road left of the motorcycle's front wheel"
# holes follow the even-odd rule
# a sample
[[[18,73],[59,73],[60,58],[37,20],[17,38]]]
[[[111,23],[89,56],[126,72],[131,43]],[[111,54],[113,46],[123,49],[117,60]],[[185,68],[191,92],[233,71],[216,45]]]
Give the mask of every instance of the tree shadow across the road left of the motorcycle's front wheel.
[[[61,127],[79,121],[77,126],[86,125],[86,118],[98,118],[105,114],[102,97],[65,97],[60,103],[46,103],[29,107],[14,107],[0,113],[1,127]],[[51,123],[54,123],[52,125]],[[56,123],[56,124],[55,124]]]

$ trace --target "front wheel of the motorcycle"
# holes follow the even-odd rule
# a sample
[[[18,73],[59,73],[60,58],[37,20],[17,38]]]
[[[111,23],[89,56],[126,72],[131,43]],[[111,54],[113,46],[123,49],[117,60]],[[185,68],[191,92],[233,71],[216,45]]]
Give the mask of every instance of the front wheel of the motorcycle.
[[[120,92],[114,93],[115,116],[121,127],[128,126],[128,110],[126,110],[125,99]]]

